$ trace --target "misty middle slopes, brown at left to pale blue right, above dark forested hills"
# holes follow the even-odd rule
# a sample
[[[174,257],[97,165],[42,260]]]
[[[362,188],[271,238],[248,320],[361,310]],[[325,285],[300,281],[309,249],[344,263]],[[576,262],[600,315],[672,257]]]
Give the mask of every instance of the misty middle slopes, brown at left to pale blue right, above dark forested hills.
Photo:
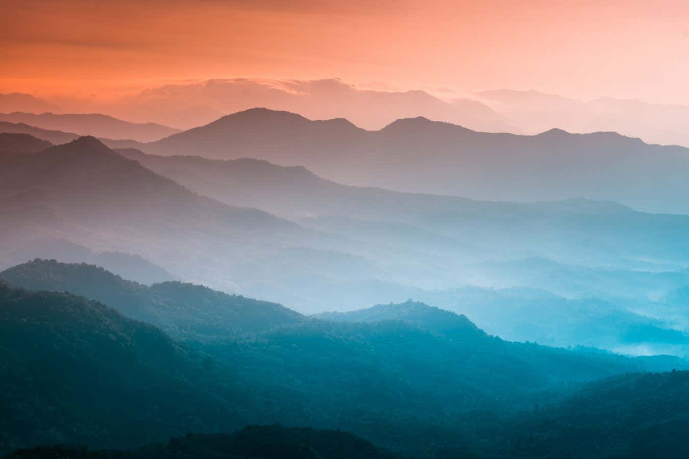
[[[3,268],[84,261],[302,312],[413,298],[472,312],[512,339],[687,354],[681,215],[345,186],[303,167],[112,151],[93,138],[31,153],[43,145],[35,139],[3,162]],[[596,327],[580,325],[593,317]]]

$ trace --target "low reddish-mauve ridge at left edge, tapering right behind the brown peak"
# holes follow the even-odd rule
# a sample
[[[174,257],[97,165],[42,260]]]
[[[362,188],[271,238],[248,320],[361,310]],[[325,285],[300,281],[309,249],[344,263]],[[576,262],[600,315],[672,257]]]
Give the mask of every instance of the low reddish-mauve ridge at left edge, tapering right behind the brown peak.
[[[154,122],[128,122],[103,114],[33,114],[17,111],[0,114],[0,121],[25,123],[41,129],[74,132],[79,136],[132,139],[141,142],[158,140],[179,132],[179,129]]]

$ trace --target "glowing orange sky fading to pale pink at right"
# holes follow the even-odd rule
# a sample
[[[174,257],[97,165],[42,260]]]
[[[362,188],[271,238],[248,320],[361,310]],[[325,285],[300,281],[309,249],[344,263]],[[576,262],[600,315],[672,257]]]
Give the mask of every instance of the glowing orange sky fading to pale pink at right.
[[[689,104],[686,1],[0,0],[0,10],[0,92],[337,77]]]

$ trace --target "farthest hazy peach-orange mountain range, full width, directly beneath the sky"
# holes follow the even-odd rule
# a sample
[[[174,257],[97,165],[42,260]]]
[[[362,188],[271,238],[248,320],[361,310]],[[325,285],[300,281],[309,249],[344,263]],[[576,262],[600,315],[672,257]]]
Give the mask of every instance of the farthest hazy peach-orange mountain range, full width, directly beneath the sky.
[[[311,81],[234,78],[152,87],[110,103],[64,97],[61,101],[73,113],[101,112],[178,129],[206,125],[224,114],[260,106],[311,119],[344,117],[359,127],[373,130],[382,129],[396,118],[424,116],[475,131],[512,134],[539,134],[553,128],[577,133],[615,131],[648,143],[689,147],[689,138],[684,133],[689,120],[686,105],[611,97],[584,100],[535,89],[492,89],[463,94],[451,88],[404,91],[385,85],[369,86],[352,85],[338,78]],[[0,113],[14,111],[68,112],[30,94],[0,94]],[[78,129],[50,129],[105,138],[134,138]]]

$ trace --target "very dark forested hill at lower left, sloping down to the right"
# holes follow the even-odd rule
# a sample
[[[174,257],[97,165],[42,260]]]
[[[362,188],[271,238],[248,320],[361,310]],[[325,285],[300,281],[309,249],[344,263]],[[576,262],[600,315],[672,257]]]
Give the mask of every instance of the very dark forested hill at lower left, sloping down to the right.
[[[136,447],[239,427],[238,389],[161,330],[70,293],[0,283],[0,451]]]

